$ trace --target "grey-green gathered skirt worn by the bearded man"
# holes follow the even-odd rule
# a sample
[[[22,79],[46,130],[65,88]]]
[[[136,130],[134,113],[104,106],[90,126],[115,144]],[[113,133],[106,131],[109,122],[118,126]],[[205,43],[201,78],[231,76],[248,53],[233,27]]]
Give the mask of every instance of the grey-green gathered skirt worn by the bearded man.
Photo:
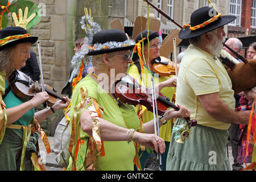
[[[176,125],[185,123],[177,119]],[[228,130],[219,130],[203,125],[191,127],[191,135],[184,143],[175,142],[171,137],[167,155],[168,171],[230,171],[226,145]]]

